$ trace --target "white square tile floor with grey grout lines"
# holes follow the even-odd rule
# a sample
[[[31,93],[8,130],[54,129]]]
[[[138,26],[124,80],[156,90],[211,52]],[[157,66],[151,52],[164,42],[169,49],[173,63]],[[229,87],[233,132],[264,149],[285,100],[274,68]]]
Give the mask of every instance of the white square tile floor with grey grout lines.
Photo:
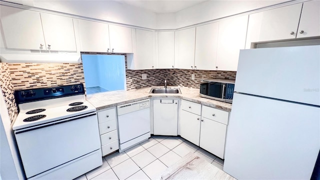
[[[159,179],[161,173],[188,152],[222,169],[223,160],[182,137],[151,136],[124,152],[102,157],[103,164],[79,177],[88,179]]]

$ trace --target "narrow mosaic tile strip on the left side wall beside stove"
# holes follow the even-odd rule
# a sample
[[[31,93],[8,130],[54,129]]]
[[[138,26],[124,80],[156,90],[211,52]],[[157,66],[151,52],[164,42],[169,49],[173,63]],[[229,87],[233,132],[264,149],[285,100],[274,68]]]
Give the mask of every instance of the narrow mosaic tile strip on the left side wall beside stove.
[[[12,122],[18,113],[18,109],[14,100],[14,88],[10,76],[9,66],[8,63],[5,62],[0,63],[0,86],[10,117],[10,122]]]

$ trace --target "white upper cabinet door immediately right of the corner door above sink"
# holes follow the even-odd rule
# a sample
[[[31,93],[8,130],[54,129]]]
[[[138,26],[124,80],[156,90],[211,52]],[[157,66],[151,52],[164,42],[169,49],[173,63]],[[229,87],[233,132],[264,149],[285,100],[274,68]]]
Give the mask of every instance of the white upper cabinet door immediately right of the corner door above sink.
[[[195,27],[175,31],[175,68],[193,69]]]

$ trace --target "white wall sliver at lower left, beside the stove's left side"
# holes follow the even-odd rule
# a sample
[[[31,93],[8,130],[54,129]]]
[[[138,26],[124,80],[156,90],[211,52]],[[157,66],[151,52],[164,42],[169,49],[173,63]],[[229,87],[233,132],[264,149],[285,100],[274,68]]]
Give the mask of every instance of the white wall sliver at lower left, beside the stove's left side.
[[[0,174],[3,179],[24,179],[10,117],[0,88]]]

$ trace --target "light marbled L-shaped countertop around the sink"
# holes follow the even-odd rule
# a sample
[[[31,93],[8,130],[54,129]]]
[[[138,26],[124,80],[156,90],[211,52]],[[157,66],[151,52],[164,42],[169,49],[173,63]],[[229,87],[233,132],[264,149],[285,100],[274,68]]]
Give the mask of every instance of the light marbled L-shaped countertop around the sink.
[[[153,86],[157,87],[157,86]],[[162,86],[161,86],[162,87]],[[173,87],[173,86],[170,86]],[[121,105],[129,102],[134,102],[137,100],[147,99],[147,98],[181,98],[189,100],[192,102],[200,103],[202,105],[218,108],[225,111],[231,111],[231,103],[221,102],[213,99],[208,99],[199,96],[199,89],[189,88],[189,87],[178,87],[181,90],[180,94],[164,94],[164,93],[149,93],[152,87],[131,89],[131,90],[116,90],[109,92],[98,92],[94,94],[86,95],[86,100],[88,100],[92,105],[95,106],[96,110],[113,107],[116,105]]]

